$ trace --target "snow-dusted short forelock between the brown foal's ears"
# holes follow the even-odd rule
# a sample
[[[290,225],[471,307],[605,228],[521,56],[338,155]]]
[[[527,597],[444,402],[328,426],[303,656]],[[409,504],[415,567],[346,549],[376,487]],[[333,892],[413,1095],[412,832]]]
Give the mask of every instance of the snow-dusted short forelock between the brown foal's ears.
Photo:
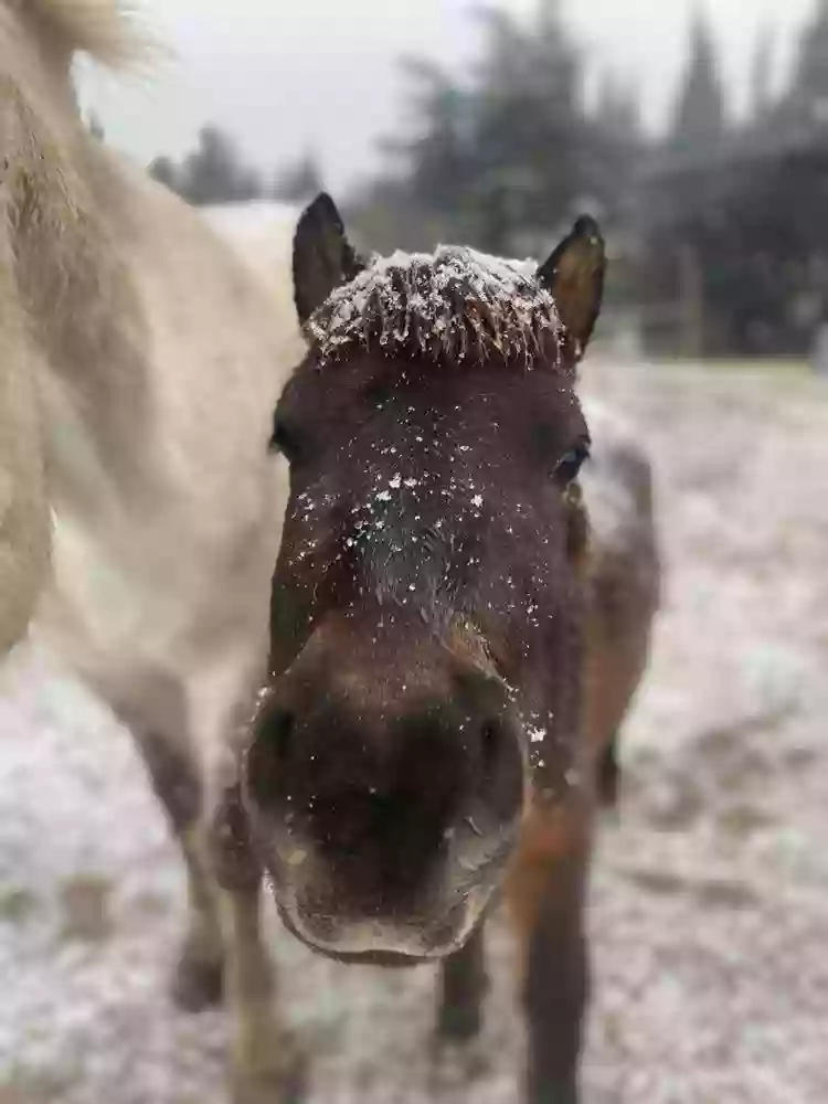
[[[531,261],[454,245],[374,256],[309,319],[311,354],[325,362],[379,348],[432,360],[497,357],[527,369],[537,358],[558,364],[561,322],[534,272]]]

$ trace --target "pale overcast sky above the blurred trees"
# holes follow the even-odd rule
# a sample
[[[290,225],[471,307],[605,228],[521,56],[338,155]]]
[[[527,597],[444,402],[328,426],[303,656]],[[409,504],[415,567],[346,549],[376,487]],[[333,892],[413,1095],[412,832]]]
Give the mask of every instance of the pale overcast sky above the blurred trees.
[[[372,148],[404,105],[396,60],[424,53],[463,65],[477,44],[474,0],[139,0],[174,57],[151,78],[82,71],[85,105],[107,137],[142,161],[179,156],[205,120],[230,129],[263,168],[314,149],[335,190],[376,167]],[[744,103],[758,29],[776,33],[779,79],[816,0],[708,0],[735,102]],[[533,0],[502,0],[521,11]],[[612,66],[640,88],[661,124],[697,0],[564,0],[594,70]]]

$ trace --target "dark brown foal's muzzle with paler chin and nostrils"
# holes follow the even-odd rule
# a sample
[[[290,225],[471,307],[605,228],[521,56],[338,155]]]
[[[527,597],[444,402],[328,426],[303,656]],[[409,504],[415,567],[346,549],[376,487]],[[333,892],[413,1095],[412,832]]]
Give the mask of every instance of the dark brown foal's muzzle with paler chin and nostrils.
[[[282,914],[346,960],[456,951],[520,824],[524,761],[503,682],[437,646],[404,658],[306,648],[264,696],[246,757]]]

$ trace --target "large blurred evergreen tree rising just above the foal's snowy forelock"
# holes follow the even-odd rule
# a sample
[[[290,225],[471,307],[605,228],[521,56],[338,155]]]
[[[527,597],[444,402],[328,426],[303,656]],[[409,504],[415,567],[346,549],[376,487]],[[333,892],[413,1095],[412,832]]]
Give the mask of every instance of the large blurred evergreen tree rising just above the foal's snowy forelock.
[[[581,64],[560,0],[519,22],[482,12],[482,56],[465,84],[408,62],[414,134],[385,142],[413,197],[459,236],[495,253],[566,219],[585,187],[590,149]],[[545,244],[545,242],[544,242]]]

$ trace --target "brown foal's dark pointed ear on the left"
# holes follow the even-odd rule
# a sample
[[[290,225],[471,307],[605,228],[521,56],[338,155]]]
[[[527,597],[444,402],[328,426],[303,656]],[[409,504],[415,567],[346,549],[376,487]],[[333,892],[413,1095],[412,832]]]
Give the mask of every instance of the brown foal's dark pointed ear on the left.
[[[333,200],[320,192],[305,210],[294,235],[294,300],[304,326],[340,284],[359,275],[364,262],[346,236]]]

